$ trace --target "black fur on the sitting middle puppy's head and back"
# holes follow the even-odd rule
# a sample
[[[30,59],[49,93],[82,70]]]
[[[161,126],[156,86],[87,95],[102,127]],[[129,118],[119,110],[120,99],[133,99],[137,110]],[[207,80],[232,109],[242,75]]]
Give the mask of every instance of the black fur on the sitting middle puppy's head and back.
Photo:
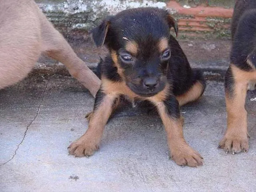
[[[109,54],[98,66],[101,78],[113,82],[125,81],[131,91],[143,97],[151,97],[169,84],[169,96],[163,102],[168,114],[179,118],[179,104],[175,96],[184,94],[198,81],[204,87],[206,84],[202,73],[191,69],[179,43],[170,34],[171,27],[177,35],[177,23],[166,10],[136,8],[109,17],[92,33],[96,45],[105,44],[109,49]],[[167,49],[171,55],[167,60],[162,58],[163,53],[158,47],[159,41],[163,38],[167,39]],[[124,62],[121,58],[126,51],[127,41],[138,45],[136,55],[129,53],[133,59],[130,63]],[[117,54],[118,64],[111,58],[113,52]],[[123,76],[120,76],[117,67],[121,68]],[[157,79],[158,84],[154,90],[145,88],[143,81],[146,78]],[[133,84],[134,82],[137,84]]]

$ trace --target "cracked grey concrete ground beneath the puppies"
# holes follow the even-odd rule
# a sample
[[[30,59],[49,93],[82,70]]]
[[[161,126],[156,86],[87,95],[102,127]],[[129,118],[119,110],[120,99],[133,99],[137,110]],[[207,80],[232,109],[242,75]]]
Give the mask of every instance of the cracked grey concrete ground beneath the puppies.
[[[177,166],[159,116],[129,106],[109,121],[98,152],[74,158],[67,147],[87,129],[93,97],[69,76],[32,75],[0,90],[0,191],[256,191],[254,97],[248,92],[248,153],[217,148],[226,111],[223,81],[212,78],[198,102],[181,108],[185,139],[204,166]]]

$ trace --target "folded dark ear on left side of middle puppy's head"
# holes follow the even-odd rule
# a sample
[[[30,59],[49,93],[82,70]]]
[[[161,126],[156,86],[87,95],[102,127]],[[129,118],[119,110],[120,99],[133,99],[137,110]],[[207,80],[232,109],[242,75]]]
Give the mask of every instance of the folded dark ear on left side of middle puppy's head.
[[[97,47],[103,46],[107,32],[109,30],[110,21],[104,20],[99,26],[91,31],[93,41]]]

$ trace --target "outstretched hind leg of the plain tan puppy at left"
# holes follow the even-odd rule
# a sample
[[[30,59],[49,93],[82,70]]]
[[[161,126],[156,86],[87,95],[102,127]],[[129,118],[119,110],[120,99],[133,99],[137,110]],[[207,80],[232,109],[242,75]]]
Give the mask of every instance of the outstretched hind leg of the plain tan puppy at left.
[[[69,73],[77,78],[95,97],[101,80],[77,57],[63,36],[52,26],[44,14],[40,12],[42,25],[43,49],[49,57],[67,66]]]

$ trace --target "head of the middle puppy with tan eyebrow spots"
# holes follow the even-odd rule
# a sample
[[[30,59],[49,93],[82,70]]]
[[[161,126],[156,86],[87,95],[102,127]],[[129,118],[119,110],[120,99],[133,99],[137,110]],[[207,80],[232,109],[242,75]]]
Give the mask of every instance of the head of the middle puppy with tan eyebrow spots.
[[[97,46],[105,44],[127,86],[140,96],[153,96],[167,84],[170,28],[167,10],[135,8],[104,20],[92,31]]]

